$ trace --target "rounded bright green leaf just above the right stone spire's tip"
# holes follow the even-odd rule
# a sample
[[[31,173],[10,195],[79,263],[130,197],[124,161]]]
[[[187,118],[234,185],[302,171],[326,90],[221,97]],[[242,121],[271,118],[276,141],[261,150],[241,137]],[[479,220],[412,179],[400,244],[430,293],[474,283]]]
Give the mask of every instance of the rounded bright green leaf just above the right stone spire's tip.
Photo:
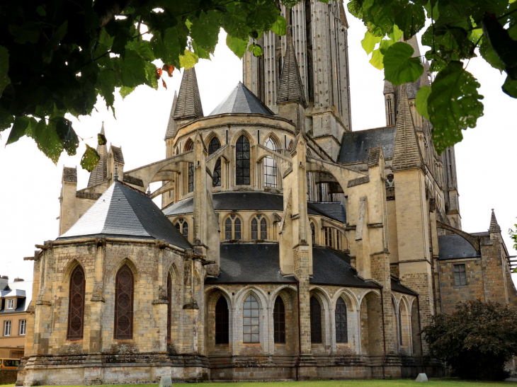
[[[394,86],[414,82],[424,73],[419,58],[412,58],[413,47],[397,42],[386,50],[384,57],[385,79]]]

